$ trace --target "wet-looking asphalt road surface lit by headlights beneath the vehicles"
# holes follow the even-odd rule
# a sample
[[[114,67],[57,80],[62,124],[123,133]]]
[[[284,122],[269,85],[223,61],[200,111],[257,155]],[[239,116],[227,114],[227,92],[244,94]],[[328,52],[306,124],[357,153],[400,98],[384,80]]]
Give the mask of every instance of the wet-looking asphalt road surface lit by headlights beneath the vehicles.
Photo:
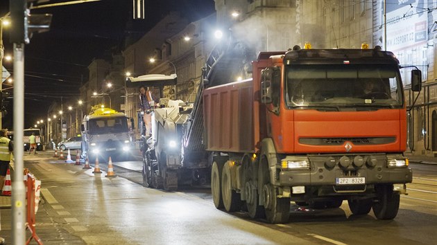
[[[412,164],[413,183],[393,220],[341,208],[291,206],[289,223],[266,224],[212,203],[208,186],[165,192],[142,186],[139,161],[114,163],[117,177],[93,174],[52,157],[25,156],[42,180],[37,234],[44,244],[436,244],[437,165]],[[101,170],[107,165],[100,164]],[[0,232],[10,237],[10,210]],[[9,233],[9,234],[8,234]],[[10,239],[10,238],[9,238]]]

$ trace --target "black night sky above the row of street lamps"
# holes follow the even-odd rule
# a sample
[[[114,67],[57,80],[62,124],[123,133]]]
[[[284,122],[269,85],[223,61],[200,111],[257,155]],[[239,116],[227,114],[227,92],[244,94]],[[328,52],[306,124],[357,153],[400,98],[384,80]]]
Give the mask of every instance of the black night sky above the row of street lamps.
[[[49,3],[65,1],[72,0]],[[132,0],[102,0],[31,10],[31,14],[51,13],[53,19],[50,31],[33,35],[25,48],[24,127],[33,127],[37,120],[46,118],[53,100],[60,102],[61,96],[64,101],[79,98],[78,88],[87,81],[87,66],[92,59],[103,57],[105,51],[113,47],[123,50],[127,35],[142,37],[170,11],[179,11],[191,21],[214,12],[214,0],[145,1],[144,20],[132,20]],[[8,3],[8,0],[0,0],[0,17],[8,12]],[[6,55],[12,55],[9,31],[3,28]],[[12,73],[11,63],[3,60],[3,66]],[[3,89],[8,87],[3,84]],[[12,129],[12,108],[10,99],[3,128]]]

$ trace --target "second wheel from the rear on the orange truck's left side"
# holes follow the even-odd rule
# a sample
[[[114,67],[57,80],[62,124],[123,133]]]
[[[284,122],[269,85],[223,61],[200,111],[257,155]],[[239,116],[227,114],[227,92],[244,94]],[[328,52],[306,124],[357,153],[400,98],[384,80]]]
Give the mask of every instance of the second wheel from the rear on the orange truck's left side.
[[[223,206],[228,212],[235,212],[241,209],[240,194],[232,189],[232,175],[230,170],[230,161],[223,165],[221,174],[221,195],[223,197]]]

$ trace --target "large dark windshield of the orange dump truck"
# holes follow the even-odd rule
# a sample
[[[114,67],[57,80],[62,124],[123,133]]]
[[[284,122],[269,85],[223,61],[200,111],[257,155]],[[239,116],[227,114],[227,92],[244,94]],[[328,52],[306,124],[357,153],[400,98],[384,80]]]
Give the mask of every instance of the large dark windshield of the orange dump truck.
[[[403,106],[399,69],[384,64],[292,64],[286,67],[288,107]]]

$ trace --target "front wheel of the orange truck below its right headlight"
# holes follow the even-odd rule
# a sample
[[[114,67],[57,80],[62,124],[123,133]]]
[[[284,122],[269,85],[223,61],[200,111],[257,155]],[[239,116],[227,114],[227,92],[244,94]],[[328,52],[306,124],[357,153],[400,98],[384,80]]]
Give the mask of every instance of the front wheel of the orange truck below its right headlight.
[[[393,192],[393,185],[377,185],[377,201],[373,203],[373,213],[377,219],[394,219],[399,210],[400,196]]]

